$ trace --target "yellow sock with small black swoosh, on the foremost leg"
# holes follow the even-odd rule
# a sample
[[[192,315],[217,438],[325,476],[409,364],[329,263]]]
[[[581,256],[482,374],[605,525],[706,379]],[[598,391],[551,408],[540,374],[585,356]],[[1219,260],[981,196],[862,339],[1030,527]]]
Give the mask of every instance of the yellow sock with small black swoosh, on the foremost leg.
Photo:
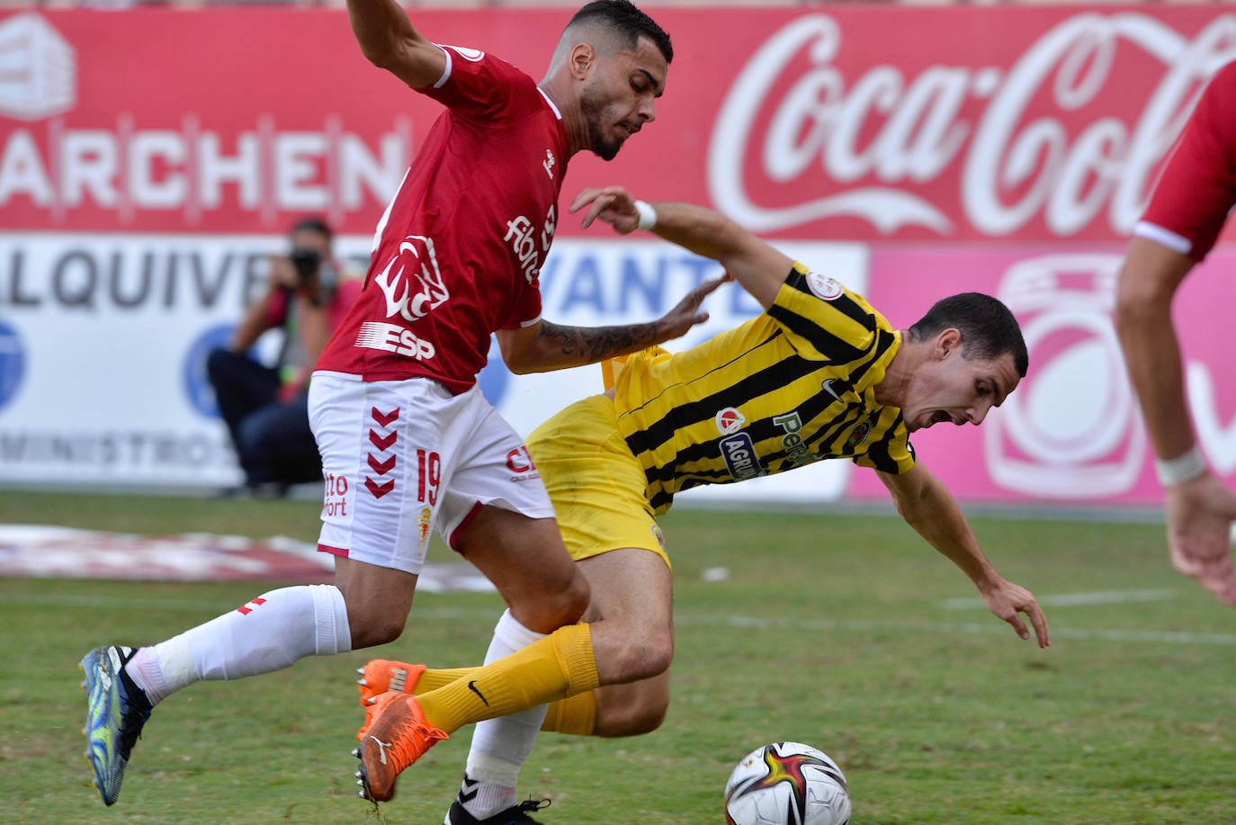
[[[587,625],[569,625],[417,700],[431,725],[454,733],[482,719],[515,714],[598,684],[592,633]]]

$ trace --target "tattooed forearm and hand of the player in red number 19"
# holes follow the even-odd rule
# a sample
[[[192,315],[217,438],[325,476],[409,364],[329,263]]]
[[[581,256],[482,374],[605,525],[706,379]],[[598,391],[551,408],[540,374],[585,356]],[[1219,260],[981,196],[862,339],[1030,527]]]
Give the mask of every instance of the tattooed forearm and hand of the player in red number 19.
[[[661,318],[646,324],[562,327],[541,319],[523,329],[501,329],[497,335],[502,360],[519,375],[549,372],[664,344],[708,320],[708,313],[700,307],[713,289],[727,281],[729,277],[722,276],[702,282]]]

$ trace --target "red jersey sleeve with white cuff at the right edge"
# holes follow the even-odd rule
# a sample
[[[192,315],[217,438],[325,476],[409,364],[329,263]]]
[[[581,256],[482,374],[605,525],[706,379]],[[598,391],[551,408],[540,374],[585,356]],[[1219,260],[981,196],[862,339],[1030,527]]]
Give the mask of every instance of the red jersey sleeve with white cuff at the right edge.
[[[1201,93],[1133,234],[1200,261],[1234,204],[1236,63],[1229,63]]]

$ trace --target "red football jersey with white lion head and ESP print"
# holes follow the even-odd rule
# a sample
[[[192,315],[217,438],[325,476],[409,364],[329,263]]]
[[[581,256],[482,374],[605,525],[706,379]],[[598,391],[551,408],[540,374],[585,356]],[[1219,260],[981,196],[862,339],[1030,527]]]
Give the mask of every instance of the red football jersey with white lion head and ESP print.
[[[566,173],[562,118],[536,83],[442,46],[419,92],[446,106],[378,223],[365,289],[318,360],[366,381],[428,377],[460,393],[489,335],[540,318],[538,275]]]

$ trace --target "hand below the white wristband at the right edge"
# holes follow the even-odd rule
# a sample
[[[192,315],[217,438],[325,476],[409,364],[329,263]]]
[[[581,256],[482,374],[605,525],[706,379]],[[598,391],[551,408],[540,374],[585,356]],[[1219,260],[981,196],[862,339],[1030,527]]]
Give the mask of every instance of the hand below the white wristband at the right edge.
[[[1164,495],[1172,566],[1229,605],[1236,605],[1231,554],[1236,495],[1210,472],[1172,485]]]

